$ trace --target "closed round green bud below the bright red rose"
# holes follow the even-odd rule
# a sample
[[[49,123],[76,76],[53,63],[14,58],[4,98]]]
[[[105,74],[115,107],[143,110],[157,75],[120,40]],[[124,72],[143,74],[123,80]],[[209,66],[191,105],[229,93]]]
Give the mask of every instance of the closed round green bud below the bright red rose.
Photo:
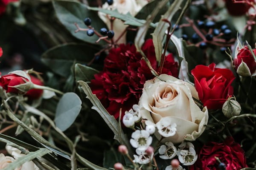
[[[228,98],[222,106],[222,112],[227,118],[238,116],[241,112],[241,106],[236,100]]]

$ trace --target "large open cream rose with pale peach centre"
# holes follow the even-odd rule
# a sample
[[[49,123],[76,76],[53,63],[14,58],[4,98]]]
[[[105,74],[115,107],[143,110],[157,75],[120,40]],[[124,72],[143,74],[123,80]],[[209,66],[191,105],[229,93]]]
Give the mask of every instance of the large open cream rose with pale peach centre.
[[[204,132],[208,110],[205,107],[201,111],[193,97],[198,99],[194,86],[161,74],[145,82],[139,102],[140,113],[147,120],[146,125],[149,122],[156,125],[157,138],[165,137],[162,142],[194,141]]]

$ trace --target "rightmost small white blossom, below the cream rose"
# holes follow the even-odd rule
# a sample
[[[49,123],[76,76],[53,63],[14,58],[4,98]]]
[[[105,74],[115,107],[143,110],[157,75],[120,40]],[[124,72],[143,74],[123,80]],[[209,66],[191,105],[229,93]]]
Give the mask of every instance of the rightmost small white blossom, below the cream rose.
[[[183,165],[192,165],[197,160],[197,155],[195,153],[194,145],[190,142],[182,142],[179,145],[177,155],[179,157],[180,163]]]

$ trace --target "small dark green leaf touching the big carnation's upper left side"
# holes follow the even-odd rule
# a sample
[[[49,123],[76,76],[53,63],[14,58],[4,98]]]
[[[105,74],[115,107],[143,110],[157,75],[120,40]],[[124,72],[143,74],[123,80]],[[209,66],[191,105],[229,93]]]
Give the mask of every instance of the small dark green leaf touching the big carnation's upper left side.
[[[75,65],[76,81],[82,80],[84,82],[90,82],[90,80],[94,78],[94,74],[97,73],[99,73],[99,71],[86,65]]]

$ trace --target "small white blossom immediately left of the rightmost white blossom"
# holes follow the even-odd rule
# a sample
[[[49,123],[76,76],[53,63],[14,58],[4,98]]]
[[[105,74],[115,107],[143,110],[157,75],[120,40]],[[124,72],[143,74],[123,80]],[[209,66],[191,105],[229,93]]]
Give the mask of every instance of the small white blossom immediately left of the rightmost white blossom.
[[[158,150],[161,159],[172,159],[177,155],[177,149],[172,142],[166,142]]]

